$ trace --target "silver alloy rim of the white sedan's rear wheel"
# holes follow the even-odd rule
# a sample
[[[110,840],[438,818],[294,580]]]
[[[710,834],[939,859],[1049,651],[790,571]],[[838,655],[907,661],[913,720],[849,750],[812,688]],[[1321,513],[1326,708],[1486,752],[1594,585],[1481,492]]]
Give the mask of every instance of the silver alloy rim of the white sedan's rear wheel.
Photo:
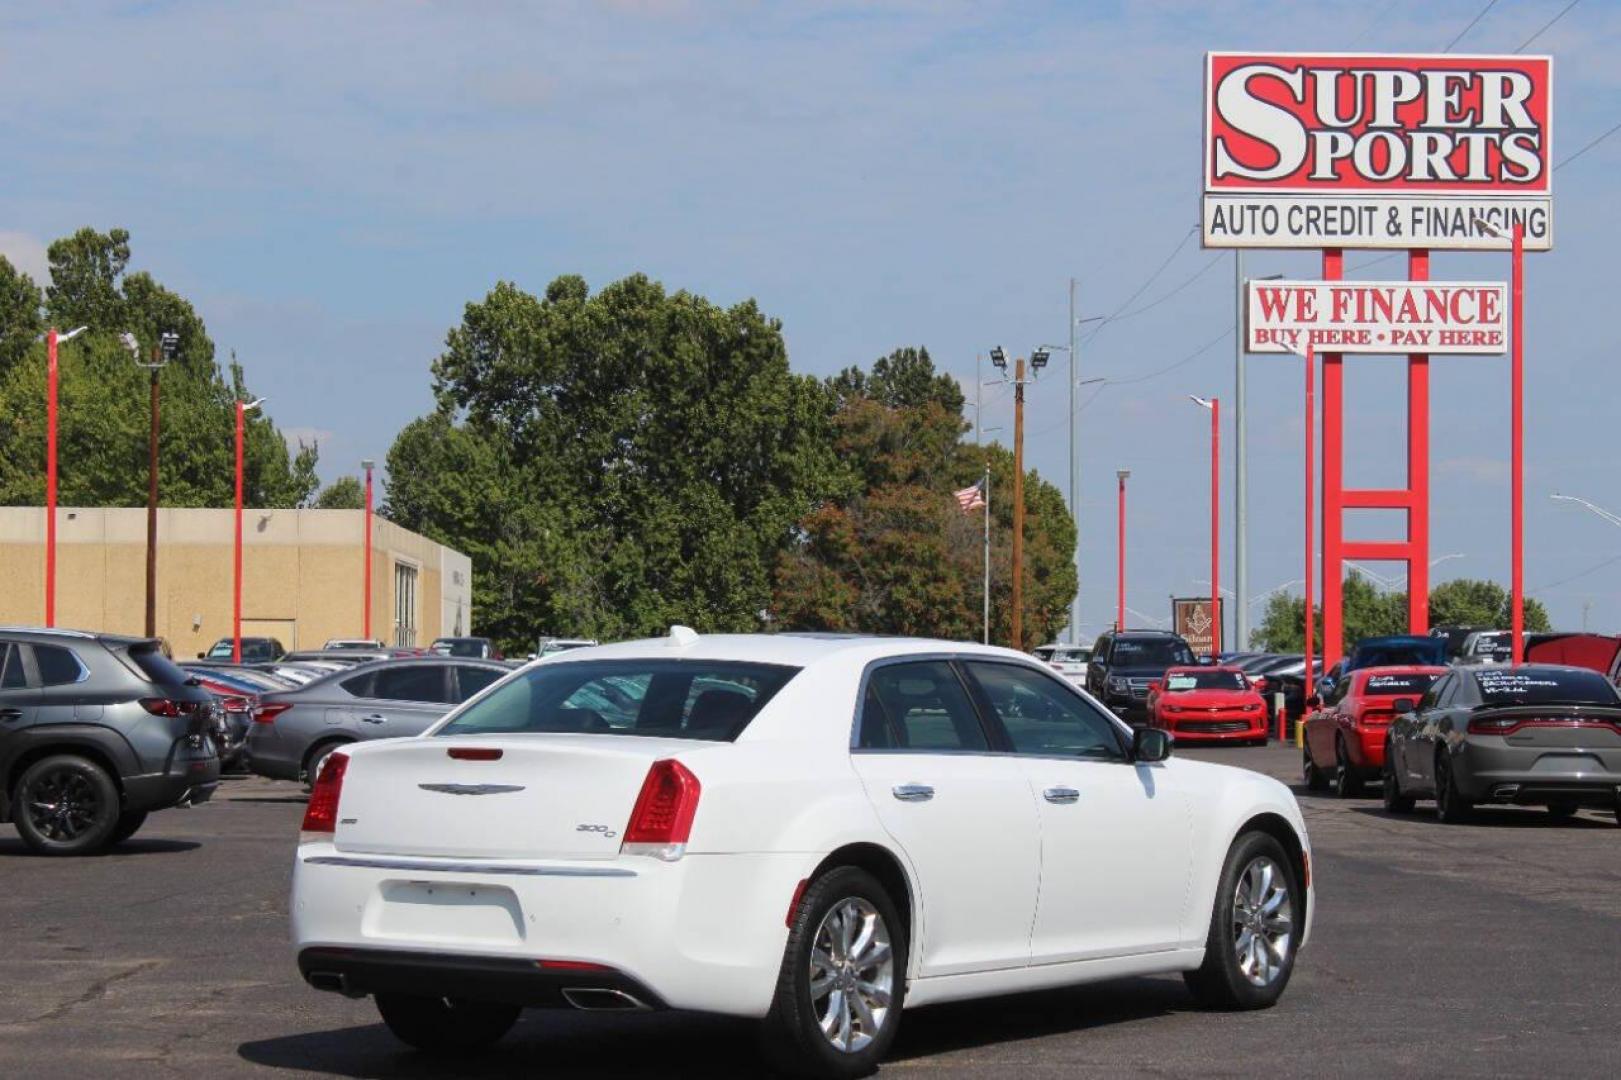
[[[810,1007],[835,1049],[856,1054],[883,1028],[895,954],[883,916],[862,897],[835,903],[810,941]]]

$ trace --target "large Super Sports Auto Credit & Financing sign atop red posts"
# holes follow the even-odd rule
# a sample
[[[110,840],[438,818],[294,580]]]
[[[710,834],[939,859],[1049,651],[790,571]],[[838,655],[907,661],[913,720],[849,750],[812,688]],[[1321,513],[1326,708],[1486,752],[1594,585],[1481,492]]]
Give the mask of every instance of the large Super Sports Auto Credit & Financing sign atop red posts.
[[[1209,246],[1551,245],[1548,57],[1208,54]],[[1490,225],[1490,227],[1488,227]]]

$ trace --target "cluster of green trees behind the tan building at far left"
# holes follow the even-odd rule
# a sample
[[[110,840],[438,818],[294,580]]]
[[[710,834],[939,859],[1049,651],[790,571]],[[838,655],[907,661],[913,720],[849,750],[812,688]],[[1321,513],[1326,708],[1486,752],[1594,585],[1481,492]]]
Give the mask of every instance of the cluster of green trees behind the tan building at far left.
[[[52,284],[44,311],[10,363],[0,363],[0,504],[39,504],[45,490],[45,347],[32,329],[49,321],[89,332],[60,350],[60,499],[79,506],[146,501],[148,373],[120,334],[133,332],[143,355],[159,334],[180,336],[175,362],[160,375],[159,496],[164,506],[230,506],[235,402],[248,394],[242,368],[222,371],[214,342],[191,305],[149,274],[128,274],[130,237],[122,229],[81,229],[49,248]],[[0,298],[26,316],[32,282],[0,268]],[[21,334],[19,334],[21,337]],[[250,414],[245,431],[246,496],[254,506],[300,506],[316,490],[314,446],[289,452],[269,417]]]

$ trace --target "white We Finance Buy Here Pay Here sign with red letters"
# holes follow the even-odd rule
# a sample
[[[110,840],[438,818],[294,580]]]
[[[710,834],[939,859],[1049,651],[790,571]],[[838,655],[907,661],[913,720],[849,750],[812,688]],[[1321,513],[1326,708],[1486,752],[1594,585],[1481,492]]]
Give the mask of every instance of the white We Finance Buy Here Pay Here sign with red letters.
[[[1371,354],[1503,354],[1503,282],[1251,281],[1245,349]]]

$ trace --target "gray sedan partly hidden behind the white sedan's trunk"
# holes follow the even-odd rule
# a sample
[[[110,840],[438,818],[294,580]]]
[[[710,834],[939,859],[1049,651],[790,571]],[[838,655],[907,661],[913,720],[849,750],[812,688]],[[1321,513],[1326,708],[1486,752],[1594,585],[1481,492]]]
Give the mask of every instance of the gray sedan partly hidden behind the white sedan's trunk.
[[[488,660],[378,660],[264,694],[248,726],[248,769],[274,780],[313,780],[339,746],[420,735],[511,673]]]

